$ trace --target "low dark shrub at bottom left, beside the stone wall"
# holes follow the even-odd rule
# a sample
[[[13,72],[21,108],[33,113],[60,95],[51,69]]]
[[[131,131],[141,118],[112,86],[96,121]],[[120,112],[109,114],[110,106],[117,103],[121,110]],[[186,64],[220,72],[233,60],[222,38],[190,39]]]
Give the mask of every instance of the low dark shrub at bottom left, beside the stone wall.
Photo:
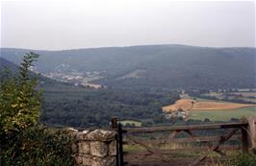
[[[70,134],[65,130],[35,126],[15,134],[1,147],[0,165],[68,166],[72,165]]]

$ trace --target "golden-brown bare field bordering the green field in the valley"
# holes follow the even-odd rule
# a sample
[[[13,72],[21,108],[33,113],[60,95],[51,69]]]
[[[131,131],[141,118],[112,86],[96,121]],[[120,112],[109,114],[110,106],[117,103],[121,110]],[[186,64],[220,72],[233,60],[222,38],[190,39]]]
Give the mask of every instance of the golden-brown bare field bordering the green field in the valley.
[[[162,107],[165,112],[175,111],[179,108],[183,110],[232,110],[241,107],[255,107],[256,105],[237,104],[214,101],[195,101],[192,99],[180,99],[175,104]]]

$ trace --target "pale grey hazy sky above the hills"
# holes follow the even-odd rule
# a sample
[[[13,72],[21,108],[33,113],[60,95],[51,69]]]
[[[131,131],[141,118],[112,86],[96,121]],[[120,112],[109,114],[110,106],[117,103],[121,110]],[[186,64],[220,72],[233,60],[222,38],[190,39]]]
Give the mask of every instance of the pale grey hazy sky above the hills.
[[[1,47],[255,47],[255,2],[1,1]]]

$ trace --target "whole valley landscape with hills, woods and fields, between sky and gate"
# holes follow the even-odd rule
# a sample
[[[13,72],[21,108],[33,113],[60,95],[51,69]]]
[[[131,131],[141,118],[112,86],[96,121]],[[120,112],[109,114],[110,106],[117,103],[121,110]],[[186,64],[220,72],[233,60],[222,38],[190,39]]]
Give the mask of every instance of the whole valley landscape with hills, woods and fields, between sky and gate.
[[[13,68],[31,50],[0,51]],[[168,44],[32,51],[40,55],[31,71],[41,75],[40,121],[46,124],[107,127],[118,116],[125,125],[146,126],[255,113],[255,48]],[[171,109],[183,120],[166,116]]]

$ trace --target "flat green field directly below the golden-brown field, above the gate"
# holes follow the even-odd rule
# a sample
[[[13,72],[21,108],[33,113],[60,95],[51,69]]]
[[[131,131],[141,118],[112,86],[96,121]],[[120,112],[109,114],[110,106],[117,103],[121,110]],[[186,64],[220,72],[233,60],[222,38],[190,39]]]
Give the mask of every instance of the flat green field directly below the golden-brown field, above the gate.
[[[192,110],[188,119],[230,121],[231,118],[256,116],[256,107],[242,107],[233,110]]]

